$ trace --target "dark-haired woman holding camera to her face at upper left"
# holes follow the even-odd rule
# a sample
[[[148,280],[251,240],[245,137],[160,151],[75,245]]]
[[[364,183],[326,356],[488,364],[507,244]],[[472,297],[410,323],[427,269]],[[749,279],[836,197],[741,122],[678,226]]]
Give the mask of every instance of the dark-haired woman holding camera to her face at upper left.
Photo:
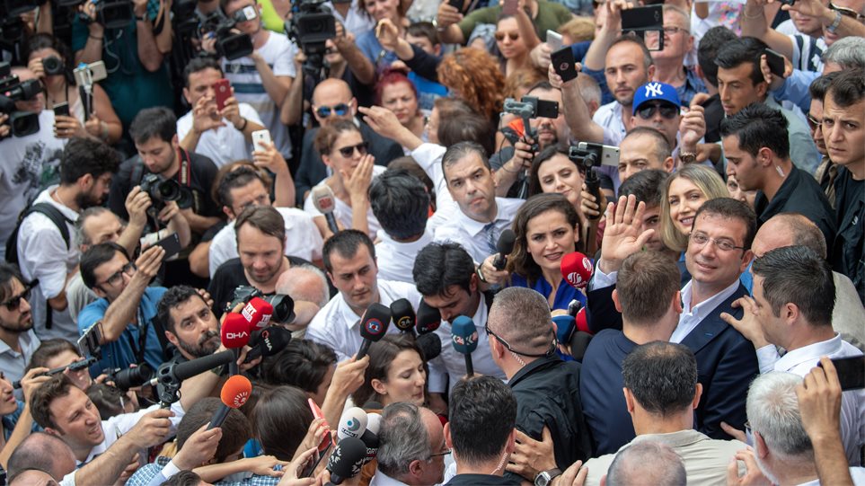
[[[27,43],[27,67],[42,81],[46,92],[46,108],[68,103],[68,116],[57,116],[56,137],[84,137],[91,135],[114,144],[123,135],[123,126],[111,107],[108,94],[99,84],[93,84],[93,105],[85,113],[84,103],[75,76],[75,66],[69,48],[50,34],[32,36]]]

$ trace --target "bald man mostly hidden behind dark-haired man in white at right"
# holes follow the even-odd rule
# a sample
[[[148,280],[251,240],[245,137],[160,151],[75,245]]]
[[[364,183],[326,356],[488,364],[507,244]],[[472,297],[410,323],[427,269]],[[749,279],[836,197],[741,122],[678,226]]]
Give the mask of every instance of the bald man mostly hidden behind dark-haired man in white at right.
[[[822,258],[826,258],[826,241],[820,228],[813,221],[797,213],[781,213],[769,218],[754,238],[751,249],[756,258],[765,252],[801,244],[808,246]],[[832,312],[832,327],[841,338],[865,352],[865,307],[856,293],[850,278],[832,272],[835,284],[835,306]],[[802,282],[808,285],[808,282]]]

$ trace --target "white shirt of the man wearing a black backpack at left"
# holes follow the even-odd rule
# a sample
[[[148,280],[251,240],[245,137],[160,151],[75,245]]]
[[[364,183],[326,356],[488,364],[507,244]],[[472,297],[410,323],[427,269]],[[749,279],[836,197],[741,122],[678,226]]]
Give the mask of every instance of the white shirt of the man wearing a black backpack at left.
[[[45,328],[45,319],[49,310],[46,299],[60,295],[66,288],[66,275],[78,264],[78,247],[73,241],[75,221],[78,213],[51,198],[51,191],[57,186],[50,186],[40,192],[34,200],[47,202],[59,209],[69,222],[69,244],[63,241],[63,236],[57,225],[51,222],[49,216],[33,213],[27,216],[18,230],[18,261],[21,273],[27,281],[39,278],[39,285],[33,287],[30,305],[33,314],[33,329],[40,340],[62,338],[75,342],[78,340],[78,326],[69,315],[69,308],[64,311],[54,311],[51,329]]]

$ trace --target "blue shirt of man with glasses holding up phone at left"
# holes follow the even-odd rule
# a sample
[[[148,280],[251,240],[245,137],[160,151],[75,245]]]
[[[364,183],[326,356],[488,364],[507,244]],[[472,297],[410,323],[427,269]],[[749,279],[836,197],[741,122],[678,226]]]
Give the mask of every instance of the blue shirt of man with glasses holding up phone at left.
[[[128,324],[118,340],[102,344],[102,359],[90,367],[92,376],[99,376],[107,368],[125,368],[138,362],[136,350],[140,345],[139,326],[146,326],[145,362],[154,369],[163,363],[163,348],[159,343],[159,337],[156,336],[153,320],[156,316],[156,304],[163,297],[165,290],[165,287],[146,288],[144,295],[141,296],[141,303],[138,304],[138,325]],[[102,320],[109,305],[108,300],[101,298],[84,307],[78,314],[79,334],[84,333],[93,323]]]

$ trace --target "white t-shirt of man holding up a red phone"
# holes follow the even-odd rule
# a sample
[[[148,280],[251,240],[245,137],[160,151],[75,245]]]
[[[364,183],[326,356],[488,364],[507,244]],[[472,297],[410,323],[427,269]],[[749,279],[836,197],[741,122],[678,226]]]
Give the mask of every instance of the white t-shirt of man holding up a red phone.
[[[264,125],[258,112],[252,106],[239,103],[238,108],[243,118]],[[199,137],[199,145],[195,146],[192,152],[207,156],[213,163],[216,163],[216,167],[222,167],[235,160],[249,160],[252,157],[252,144],[246,143],[243,132],[234,128],[230,121],[223,119],[223,122],[225,127],[214,128],[202,133]],[[191,129],[192,110],[177,120],[177,137],[182,140],[190,133]]]

